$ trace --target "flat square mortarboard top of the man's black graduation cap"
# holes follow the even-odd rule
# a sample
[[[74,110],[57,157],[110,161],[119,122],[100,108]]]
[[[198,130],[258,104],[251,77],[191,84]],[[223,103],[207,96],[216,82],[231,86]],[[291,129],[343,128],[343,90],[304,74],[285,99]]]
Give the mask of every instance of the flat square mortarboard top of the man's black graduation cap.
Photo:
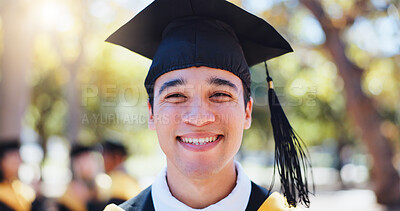
[[[266,21],[223,0],[156,0],[107,41],[153,59],[167,25],[194,16],[230,25],[240,40],[249,66],[293,51]]]

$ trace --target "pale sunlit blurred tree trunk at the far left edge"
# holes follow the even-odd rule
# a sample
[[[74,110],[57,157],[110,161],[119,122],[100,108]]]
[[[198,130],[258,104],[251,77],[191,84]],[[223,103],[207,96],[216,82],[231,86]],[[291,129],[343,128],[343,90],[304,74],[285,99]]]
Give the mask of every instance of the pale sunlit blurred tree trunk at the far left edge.
[[[0,137],[16,138],[29,103],[33,27],[29,6],[19,0],[2,3],[3,55],[0,81]]]

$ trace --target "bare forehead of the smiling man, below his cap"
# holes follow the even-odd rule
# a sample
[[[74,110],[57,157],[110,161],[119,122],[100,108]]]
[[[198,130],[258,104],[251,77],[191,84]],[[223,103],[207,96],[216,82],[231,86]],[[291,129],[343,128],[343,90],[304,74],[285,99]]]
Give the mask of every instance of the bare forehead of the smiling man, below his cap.
[[[167,72],[157,78],[154,83],[154,89],[160,89],[163,83],[167,81],[171,81],[174,79],[183,79],[185,84],[203,84],[207,83],[210,78],[220,78],[224,80],[228,80],[231,83],[235,84],[239,89],[242,89],[242,80],[236,76],[235,74],[211,67],[189,67],[185,69],[174,70],[171,72]]]

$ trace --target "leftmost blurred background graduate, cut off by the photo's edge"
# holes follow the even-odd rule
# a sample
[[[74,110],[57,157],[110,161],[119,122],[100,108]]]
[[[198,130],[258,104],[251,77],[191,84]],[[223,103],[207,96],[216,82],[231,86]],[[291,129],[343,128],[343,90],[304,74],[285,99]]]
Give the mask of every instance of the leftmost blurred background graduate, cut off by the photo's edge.
[[[41,210],[35,191],[18,179],[19,148],[18,139],[0,140],[0,210]]]

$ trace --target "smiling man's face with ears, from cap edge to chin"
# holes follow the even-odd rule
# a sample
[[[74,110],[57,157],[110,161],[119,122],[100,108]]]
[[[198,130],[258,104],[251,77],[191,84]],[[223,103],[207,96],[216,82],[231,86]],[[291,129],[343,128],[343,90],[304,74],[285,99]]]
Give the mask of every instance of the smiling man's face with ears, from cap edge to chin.
[[[234,74],[208,67],[175,70],[154,84],[149,128],[181,174],[212,176],[239,150],[243,130],[250,127],[252,100],[244,104],[242,81]]]

